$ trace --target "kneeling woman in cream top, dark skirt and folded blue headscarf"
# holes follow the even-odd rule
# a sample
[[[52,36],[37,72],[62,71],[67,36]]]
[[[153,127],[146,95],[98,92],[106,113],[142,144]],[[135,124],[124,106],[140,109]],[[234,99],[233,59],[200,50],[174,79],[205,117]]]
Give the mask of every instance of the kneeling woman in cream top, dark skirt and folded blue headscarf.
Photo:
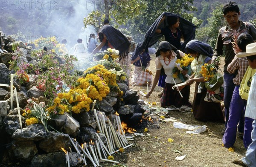
[[[203,66],[204,63],[210,64],[212,61],[213,50],[211,46],[198,40],[191,40],[187,43],[186,50],[195,58],[191,63],[194,74],[186,81],[187,85],[191,85],[195,82],[195,95],[192,104],[195,119],[199,121],[219,121],[224,123],[224,114],[221,109],[221,104],[204,101],[207,93],[205,87],[201,89],[201,93],[198,93],[199,83],[205,82],[204,77],[200,74],[201,66]]]

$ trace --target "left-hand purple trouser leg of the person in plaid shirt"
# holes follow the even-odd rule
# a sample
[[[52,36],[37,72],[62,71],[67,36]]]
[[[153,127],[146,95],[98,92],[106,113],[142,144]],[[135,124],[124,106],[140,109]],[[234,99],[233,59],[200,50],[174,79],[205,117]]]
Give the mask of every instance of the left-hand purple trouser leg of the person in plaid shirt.
[[[232,100],[229,108],[229,119],[227,121],[227,128],[223,135],[222,141],[225,147],[233,147],[236,141],[237,124],[242,115],[244,115],[246,100],[241,99],[239,95],[239,85],[233,91]],[[246,141],[250,142],[250,141]]]

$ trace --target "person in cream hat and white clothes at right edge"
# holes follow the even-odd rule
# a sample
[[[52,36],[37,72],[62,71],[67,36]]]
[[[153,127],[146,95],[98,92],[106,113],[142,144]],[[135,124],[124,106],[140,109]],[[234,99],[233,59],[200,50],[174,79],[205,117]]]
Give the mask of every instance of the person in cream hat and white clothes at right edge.
[[[246,57],[249,66],[256,69],[256,43],[250,43],[246,46],[246,52],[238,53],[236,56],[239,58]],[[256,167],[256,73],[252,77],[244,116],[253,119],[252,143],[249,145],[245,157],[236,159],[233,163],[244,167]]]

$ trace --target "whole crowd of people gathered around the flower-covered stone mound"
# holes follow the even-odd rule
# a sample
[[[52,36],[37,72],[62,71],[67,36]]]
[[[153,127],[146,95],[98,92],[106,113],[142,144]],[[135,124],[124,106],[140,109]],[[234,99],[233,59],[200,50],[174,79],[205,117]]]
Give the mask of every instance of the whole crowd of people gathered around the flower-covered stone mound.
[[[95,34],[90,34],[87,41],[87,52],[93,56],[100,50],[114,48],[119,50],[119,63],[127,74],[127,83],[129,83],[129,72],[131,64],[134,65],[134,72],[131,78],[131,84],[134,85],[140,78],[142,71],[150,66],[151,53],[155,54],[156,73],[152,81],[150,90],[146,97],[149,97],[154,88],[163,87],[163,91],[158,95],[160,97],[161,107],[181,107],[183,105],[192,107],[194,117],[198,121],[218,121],[223,123],[223,146],[233,147],[238,133],[244,141],[244,147],[247,149],[246,156],[233,161],[235,164],[248,167],[256,167],[256,29],[248,22],[239,20],[241,14],[239,6],[235,2],[229,2],[224,5],[223,16],[227,25],[219,30],[215,48],[204,42],[195,40],[193,33],[184,30],[180,22],[184,19],[175,14],[163,14],[155,24],[153,33],[165,37],[161,41],[157,50],[152,50],[143,41],[136,43],[129,35],[124,35],[119,30],[109,25],[105,20],[104,25],[99,30],[99,43]],[[159,28],[160,24],[166,22],[165,27]],[[184,21],[183,21],[184,23]],[[191,23],[192,24],[192,23]],[[154,26],[151,26],[154,27]],[[183,32],[187,32],[184,34]],[[233,35],[239,33],[236,45],[239,47],[239,53],[233,50]],[[188,37],[192,40],[187,41]],[[184,43],[187,41],[186,43]],[[78,57],[85,52],[85,46],[81,39],[77,40],[74,53]],[[182,47],[184,46],[184,47]],[[151,49],[149,49],[151,48]],[[129,54],[133,51],[133,54]],[[192,71],[190,77],[183,82],[179,77],[173,76],[175,62],[186,54],[194,58],[189,68]],[[224,82],[224,112],[220,102],[209,102],[205,100],[207,88],[201,87],[201,83],[206,82],[206,78],[201,73],[201,67],[205,64],[215,63],[219,56],[225,56],[223,72]],[[239,89],[241,82],[246,77],[247,70],[251,68],[250,91],[248,98],[241,98]],[[214,69],[215,70],[215,69]],[[189,70],[183,70],[181,73],[186,75]],[[187,76],[187,75],[186,75]],[[177,89],[172,89],[173,86]],[[192,104],[189,102],[190,85],[195,83],[195,93]],[[249,83],[249,82],[248,82]],[[247,84],[247,83],[246,83]],[[182,94],[182,96],[181,96]],[[238,131],[238,132],[237,132]]]

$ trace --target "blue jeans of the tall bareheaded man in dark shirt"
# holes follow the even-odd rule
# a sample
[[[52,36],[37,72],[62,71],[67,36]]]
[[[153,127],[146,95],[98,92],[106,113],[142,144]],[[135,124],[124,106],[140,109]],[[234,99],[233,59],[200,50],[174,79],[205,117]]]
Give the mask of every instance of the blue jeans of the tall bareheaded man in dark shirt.
[[[236,75],[230,74],[227,72],[224,72],[223,78],[224,78],[224,107],[225,107],[225,127],[227,128],[227,122],[229,118],[229,108],[230,103],[233,95],[233,90],[235,89],[235,83],[233,82],[233,78],[235,78]]]

